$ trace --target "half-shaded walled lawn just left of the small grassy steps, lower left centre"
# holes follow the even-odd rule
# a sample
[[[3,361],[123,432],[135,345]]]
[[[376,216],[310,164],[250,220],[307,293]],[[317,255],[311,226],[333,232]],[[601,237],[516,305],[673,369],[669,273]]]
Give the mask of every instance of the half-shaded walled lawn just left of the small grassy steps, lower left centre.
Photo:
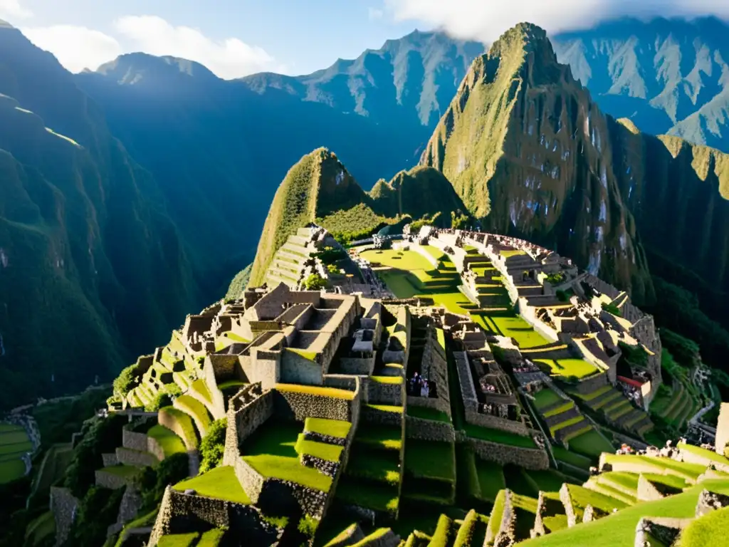
[[[242,457],[263,476],[329,492],[332,478],[299,462],[295,446],[300,432],[297,424],[266,422],[243,443]]]

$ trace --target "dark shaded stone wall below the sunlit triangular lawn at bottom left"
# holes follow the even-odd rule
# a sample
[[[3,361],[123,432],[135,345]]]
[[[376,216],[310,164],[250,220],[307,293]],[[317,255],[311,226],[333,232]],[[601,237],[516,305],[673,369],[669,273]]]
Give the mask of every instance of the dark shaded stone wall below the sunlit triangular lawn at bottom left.
[[[230,529],[233,535],[245,536],[246,544],[252,546],[273,545],[283,533],[283,529],[264,521],[252,505],[184,494],[168,486],[149,536],[149,547],[156,546],[163,535],[194,532],[201,527]]]

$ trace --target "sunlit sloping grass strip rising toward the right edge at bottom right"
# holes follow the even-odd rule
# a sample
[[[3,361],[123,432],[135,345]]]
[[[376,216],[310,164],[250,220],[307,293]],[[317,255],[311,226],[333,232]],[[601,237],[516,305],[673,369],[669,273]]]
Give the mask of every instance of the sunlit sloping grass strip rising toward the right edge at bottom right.
[[[604,519],[559,530],[541,538],[527,540],[520,544],[520,547],[522,545],[524,547],[632,546],[635,539],[636,524],[642,516],[692,518],[695,514],[698,494],[703,488],[720,494],[729,494],[729,481],[706,481],[682,494],[654,502],[639,503],[606,516]],[[720,543],[708,543],[708,545],[718,546]]]

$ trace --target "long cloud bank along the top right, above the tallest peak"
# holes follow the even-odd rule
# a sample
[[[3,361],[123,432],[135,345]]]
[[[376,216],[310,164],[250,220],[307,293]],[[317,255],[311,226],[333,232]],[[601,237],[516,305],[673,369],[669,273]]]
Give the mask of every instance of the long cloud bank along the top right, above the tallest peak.
[[[385,0],[396,20],[420,20],[454,36],[491,42],[522,21],[549,32],[586,28],[606,18],[717,15],[726,0]]]

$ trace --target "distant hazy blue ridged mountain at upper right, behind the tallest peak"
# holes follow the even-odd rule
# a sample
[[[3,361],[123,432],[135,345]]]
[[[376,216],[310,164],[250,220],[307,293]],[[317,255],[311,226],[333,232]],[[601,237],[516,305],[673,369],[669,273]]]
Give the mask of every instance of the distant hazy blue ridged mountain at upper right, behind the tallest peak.
[[[729,152],[729,24],[620,19],[552,37],[603,112]]]

